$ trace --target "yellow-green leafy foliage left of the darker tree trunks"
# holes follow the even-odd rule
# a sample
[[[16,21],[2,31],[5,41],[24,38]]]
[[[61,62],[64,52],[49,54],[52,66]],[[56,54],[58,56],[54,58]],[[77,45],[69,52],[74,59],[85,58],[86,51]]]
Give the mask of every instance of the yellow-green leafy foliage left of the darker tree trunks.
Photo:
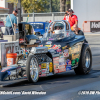
[[[18,4],[18,0],[8,0],[9,3]],[[21,0],[21,6],[26,13],[34,12],[44,12],[44,5],[48,4],[47,0]]]

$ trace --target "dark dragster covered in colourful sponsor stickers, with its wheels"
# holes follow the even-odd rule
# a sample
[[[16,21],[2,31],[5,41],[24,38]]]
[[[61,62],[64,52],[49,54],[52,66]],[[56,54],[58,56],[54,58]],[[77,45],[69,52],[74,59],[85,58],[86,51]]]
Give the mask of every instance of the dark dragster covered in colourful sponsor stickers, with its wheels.
[[[22,25],[25,26],[24,23]],[[22,59],[17,62],[17,77],[26,75],[28,81],[37,82],[39,77],[50,76],[72,69],[76,74],[88,74],[90,72],[92,54],[89,44],[86,42],[84,35],[76,35],[71,31],[67,21],[51,22],[41,43],[36,37],[31,44],[27,42],[25,32],[28,31],[19,31],[24,40],[22,43],[19,42],[19,45],[24,47],[27,56],[26,53],[22,54]],[[19,35],[19,38],[21,35]],[[23,55],[26,57],[24,58]],[[17,71],[17,68],[20,67],[21,70]],[[1,80],[10,77],[10,69],[7,71],[8,69],[0,72],[0,74],[6,72],[5,78],[1,77]]]

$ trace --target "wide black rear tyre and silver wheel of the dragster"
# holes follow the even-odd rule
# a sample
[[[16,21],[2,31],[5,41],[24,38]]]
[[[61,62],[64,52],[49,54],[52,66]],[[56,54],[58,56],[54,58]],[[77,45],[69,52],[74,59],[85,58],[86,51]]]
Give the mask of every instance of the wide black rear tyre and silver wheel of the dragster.
[[[74,69],[76,74],[88,74],[92,67],[92,54],[90,47],[85,44],[82,48],[79,65]]]

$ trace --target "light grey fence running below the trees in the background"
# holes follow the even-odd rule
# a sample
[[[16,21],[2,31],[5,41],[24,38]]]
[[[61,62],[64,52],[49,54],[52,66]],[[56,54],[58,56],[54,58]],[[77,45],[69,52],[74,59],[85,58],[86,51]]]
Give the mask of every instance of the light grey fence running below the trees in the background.
[[[22,14],[23,22],[27,21],[27,16],[29,15],[28,22],[37,21],[50,21],[50,20],[62,20],[64,18],[65,12],[51,12],[51,13],[25,13]],[[8,14],[0,14],[0,19],[5,21]],[[18,20],[18,16],[17,16]]]

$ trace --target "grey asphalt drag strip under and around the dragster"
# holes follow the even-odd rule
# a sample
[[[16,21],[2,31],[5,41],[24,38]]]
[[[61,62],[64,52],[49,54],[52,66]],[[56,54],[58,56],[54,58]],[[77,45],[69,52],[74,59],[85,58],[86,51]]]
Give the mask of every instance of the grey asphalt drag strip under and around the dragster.
[[[0,95],[0,100],[100,100],[100,35],[86,36],[86,39],[93,55],[88,75],[76,75],[72,70],[40,78],[35,84],[24,81],[0,91],[45,91],[46,95]]]

